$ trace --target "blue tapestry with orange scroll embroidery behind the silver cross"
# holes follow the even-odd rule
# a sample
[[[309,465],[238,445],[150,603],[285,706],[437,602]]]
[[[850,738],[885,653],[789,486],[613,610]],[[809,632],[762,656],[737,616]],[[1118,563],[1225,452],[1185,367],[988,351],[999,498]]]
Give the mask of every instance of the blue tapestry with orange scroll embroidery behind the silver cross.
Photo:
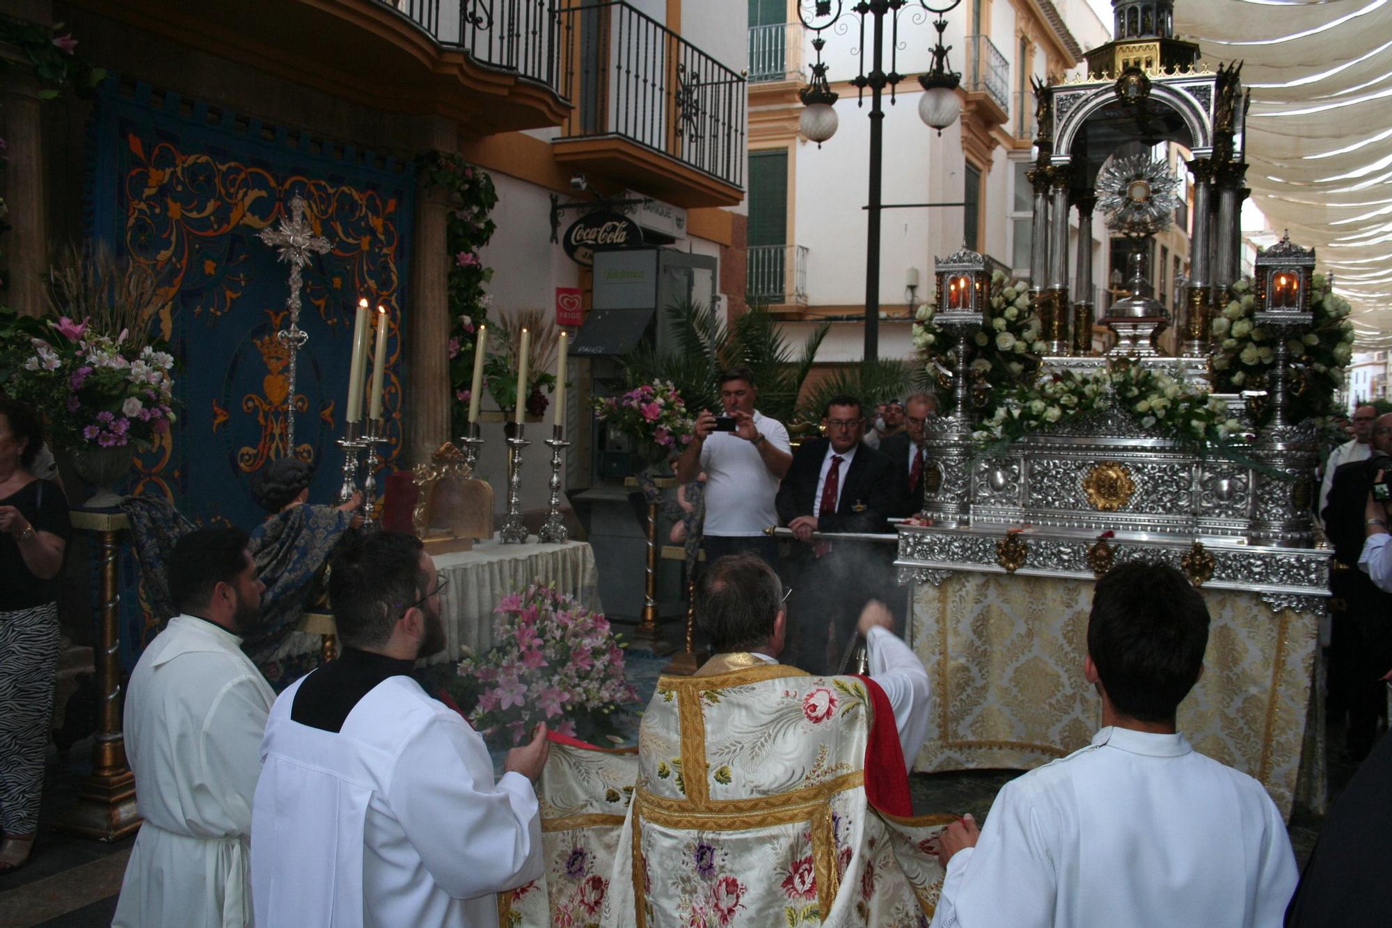
[[[390,314],[387,443],[379,446],[390,468],[401,447],[413,169],[118,79],[103,85],[90,146],[92,233],[155,272],[170,298],[155,330],[181,364],[180,418],[136,457],[125,492],[164,496],[195,521],[251,528],[264,517],[251,490],[256,472],[294,454],[316,467],[310,499],[333,500],[359,297]],[[303,268],[299,327],[309,340],[291,397],[290,348],[276,339],[290,327],[288,266],[258,234],[288,215],[295,195],[330,247]],[[122,599],[135,601],[132,592]],[[122,619],[129,634],[121,637],[138,651],[152,630]]]

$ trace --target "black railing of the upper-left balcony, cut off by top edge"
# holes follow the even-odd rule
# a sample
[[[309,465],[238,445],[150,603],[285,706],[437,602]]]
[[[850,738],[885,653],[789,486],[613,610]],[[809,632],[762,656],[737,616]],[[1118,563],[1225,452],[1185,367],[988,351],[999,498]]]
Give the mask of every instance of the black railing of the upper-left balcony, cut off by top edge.
[[[560,93],[557,0],[376,0],[479,64]]]

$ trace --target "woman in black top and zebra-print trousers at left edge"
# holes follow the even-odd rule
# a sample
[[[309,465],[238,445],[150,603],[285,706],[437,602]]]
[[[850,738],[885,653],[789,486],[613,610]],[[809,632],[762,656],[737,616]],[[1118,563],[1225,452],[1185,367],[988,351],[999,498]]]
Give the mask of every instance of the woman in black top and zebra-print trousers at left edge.
[[[72,534],[68,500],[29,468],[43,424],[0,396],[0,874],[33,849],[43,748],[58,663],[58,585]]]

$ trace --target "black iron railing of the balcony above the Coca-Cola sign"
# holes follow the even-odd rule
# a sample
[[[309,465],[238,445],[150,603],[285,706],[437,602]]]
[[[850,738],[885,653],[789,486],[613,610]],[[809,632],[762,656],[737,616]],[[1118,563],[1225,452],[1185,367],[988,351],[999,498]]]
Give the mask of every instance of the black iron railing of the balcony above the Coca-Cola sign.
[[[565,138],[618,135],[743,187],[745,79],[626,3],[561,8]]]

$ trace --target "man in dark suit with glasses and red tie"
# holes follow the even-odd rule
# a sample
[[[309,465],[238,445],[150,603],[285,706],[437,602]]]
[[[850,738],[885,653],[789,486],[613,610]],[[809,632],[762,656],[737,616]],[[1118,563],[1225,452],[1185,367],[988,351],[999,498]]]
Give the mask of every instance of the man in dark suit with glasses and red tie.
[[[821,429],[827,438],[806,442],[793,454],[775,500],[778,518],[798,539],[785,574],[795,594],[789,603],[795,663],[809,673],[839,669],[832,663],[855,634],[860,609],[867,599],[888,595],[894,560],[892,545],[813,534],[887,532],[885,520],[905,506],[894,463],[860,443],[860,400],[834,397]]]

